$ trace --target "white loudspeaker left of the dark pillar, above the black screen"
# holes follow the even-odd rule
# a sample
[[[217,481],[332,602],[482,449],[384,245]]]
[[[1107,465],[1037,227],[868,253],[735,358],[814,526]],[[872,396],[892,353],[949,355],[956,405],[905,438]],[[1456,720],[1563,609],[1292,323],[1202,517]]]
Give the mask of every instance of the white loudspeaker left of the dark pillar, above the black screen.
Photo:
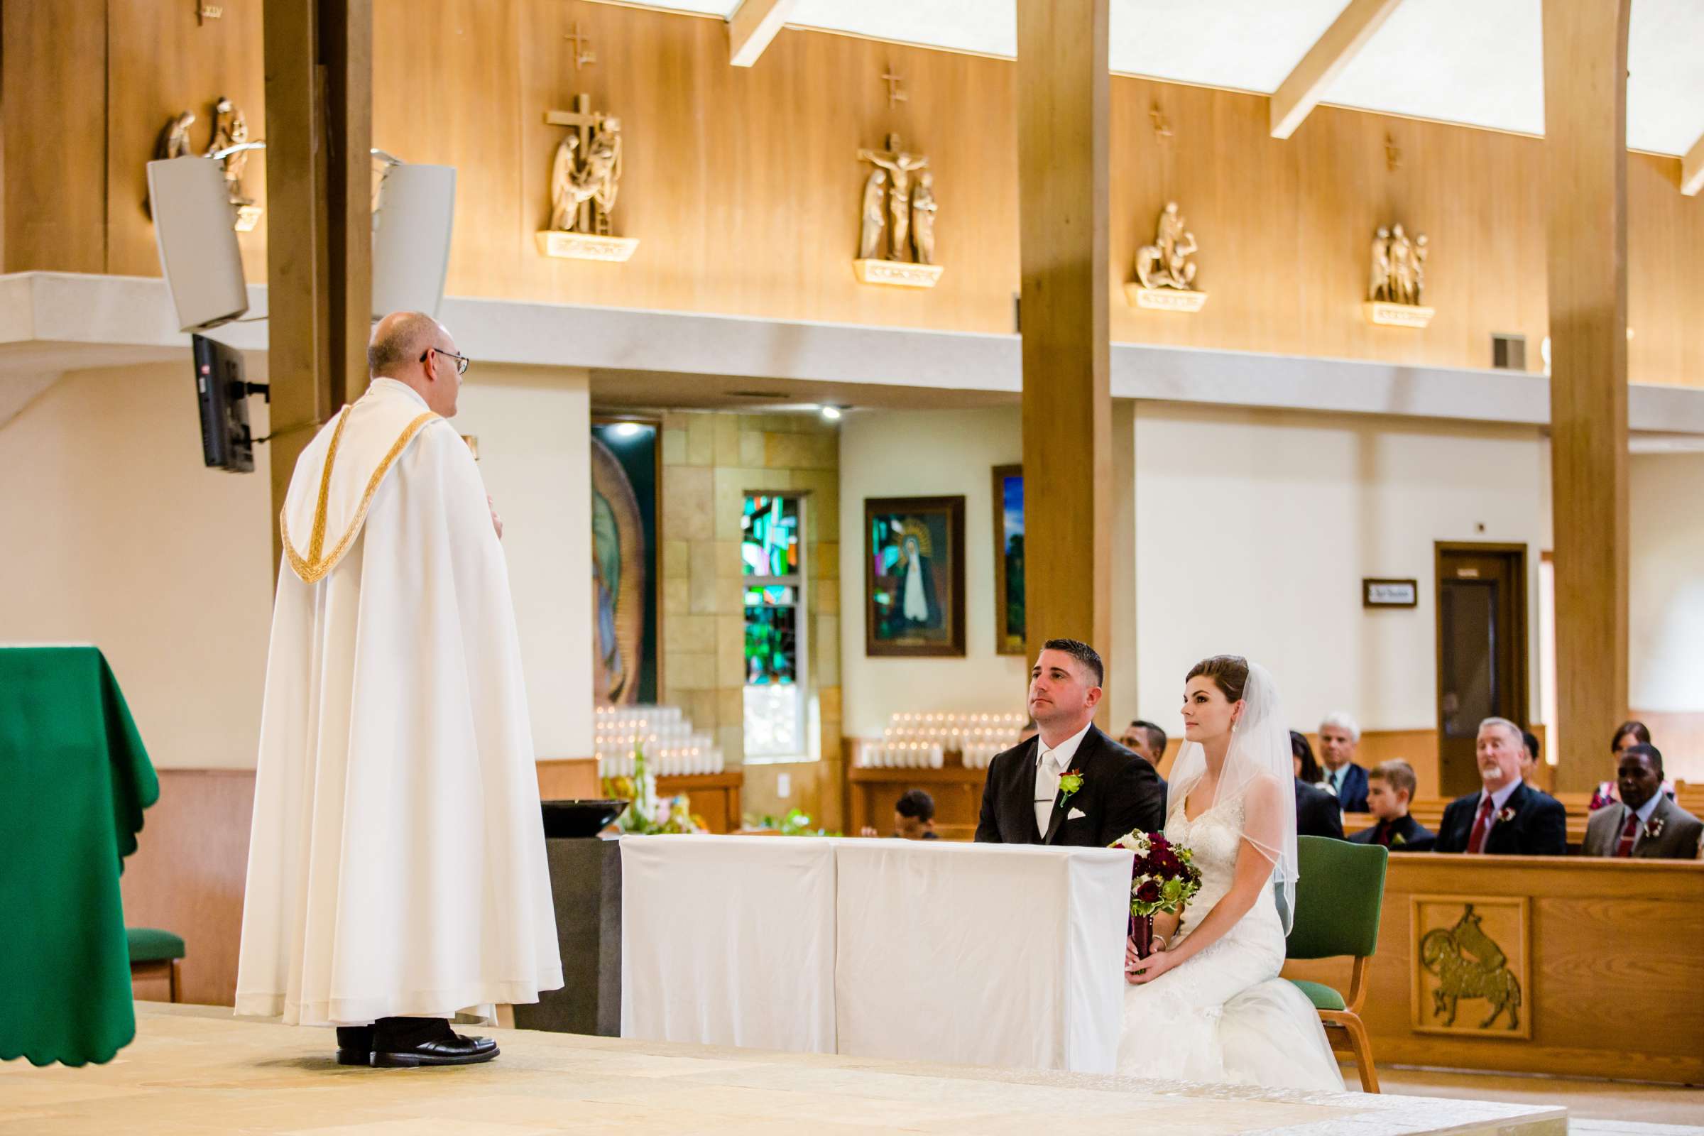
[[[204,330],[247,312],[242,252],[220,164],[213,158],[148,162],[148,203],[179,329]]]

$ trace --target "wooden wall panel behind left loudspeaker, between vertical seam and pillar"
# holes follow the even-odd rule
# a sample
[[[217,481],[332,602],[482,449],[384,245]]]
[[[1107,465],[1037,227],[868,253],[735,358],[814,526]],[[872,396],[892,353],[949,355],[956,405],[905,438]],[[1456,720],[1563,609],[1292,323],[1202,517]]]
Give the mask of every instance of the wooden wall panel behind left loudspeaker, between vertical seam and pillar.
[[[223,3],[216,20],[196,24],[189,3],[111,0],[107,3],[106,114],[106,271],[114,276],[158,276],[160,254],[153,223],[141,203],[148,194],[148,160],[160,128],[179,111],[194,111],[189,129],[194,153],[213,136],[213,104],[228,97],[249,119],[249,138],[266,138],[261,5]],[[266,153],[250,153],[244,192],[266,208]],[[266,283],[266,215],[254,232],[240,233],[242,269],[250,283]],[[92,269],[99,271],[99,269]]]

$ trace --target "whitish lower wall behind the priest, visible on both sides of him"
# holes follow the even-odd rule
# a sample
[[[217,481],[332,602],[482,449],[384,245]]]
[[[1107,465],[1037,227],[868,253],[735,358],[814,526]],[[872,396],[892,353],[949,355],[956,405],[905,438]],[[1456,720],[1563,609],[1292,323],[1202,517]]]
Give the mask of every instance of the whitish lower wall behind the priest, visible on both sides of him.
[[[262,356],[249,373],[264,380]],[[586,756],[586,375],[470,371],[457,427],[481,436],[504,518],[538,756]],[[0,642],[101,645],[162,768],[254,765],[273,603],[266,446],[257,467],[203,467],[187,356],[73,371],[0,426]]]

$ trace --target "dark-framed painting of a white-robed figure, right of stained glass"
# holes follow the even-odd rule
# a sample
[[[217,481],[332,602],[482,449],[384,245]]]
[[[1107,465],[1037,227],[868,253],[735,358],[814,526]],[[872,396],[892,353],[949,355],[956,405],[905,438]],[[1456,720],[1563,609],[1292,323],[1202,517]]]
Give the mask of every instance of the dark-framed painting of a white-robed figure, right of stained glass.
[[[864,654],[964,654],[964,497],[864,501]]]

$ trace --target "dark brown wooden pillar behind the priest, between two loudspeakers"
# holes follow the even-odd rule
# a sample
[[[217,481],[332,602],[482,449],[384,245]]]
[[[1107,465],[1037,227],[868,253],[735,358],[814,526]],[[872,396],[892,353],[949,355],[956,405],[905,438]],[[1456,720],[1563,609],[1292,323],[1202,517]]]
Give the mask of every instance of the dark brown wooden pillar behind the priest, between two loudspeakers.
[[[366,388],[371,0],[268,0],[266,290],[273,516],[314,431]],[[273,562],[283,555],[273,526]]]

